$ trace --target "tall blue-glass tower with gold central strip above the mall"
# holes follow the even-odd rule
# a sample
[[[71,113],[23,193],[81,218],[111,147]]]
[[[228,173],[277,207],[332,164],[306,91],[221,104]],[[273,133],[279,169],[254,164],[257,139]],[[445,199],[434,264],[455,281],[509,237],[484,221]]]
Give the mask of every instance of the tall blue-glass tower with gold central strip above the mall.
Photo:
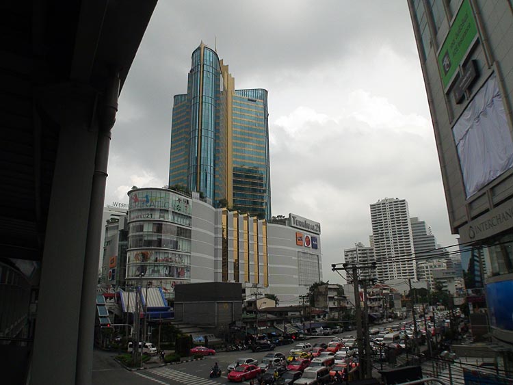
[[[169,185],[270,219],[267,117],[267,91],[235,90],[228,65],[201,43],[187,94],[174,96]]]

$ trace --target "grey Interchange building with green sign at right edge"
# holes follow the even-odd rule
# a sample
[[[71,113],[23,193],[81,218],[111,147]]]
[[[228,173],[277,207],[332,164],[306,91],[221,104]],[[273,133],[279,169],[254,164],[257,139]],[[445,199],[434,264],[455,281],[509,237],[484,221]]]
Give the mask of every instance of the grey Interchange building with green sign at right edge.
[[[449,224],[473,249],[466,283],[480,284],[484,256],[491,334],[513,347],[513,3],[408,0],[408,7]]]

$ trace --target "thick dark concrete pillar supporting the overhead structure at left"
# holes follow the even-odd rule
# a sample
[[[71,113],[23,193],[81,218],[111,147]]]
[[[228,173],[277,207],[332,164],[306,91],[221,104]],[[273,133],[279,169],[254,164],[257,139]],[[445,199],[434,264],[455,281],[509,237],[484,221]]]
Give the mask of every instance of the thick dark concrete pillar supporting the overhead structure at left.
[[[38,101],[40,111],[48,114],[60,131],[29,374],[29,383],[33,385],[75,384],[88,217],[98,137],[94,124],[95,104],[94,91],[72,85],[44,90]],[[98,244],[98,250],[99,247]],[[89,363],[81,364],[91,364],[92,357],[89,360]]]

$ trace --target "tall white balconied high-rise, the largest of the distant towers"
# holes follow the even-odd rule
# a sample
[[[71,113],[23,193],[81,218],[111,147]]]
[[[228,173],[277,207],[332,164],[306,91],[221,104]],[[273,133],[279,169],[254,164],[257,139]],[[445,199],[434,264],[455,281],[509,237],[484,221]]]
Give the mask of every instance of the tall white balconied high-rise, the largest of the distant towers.
[[[371,222],[378,281],[417,278],[408,202],[378,200],[371,204]]]

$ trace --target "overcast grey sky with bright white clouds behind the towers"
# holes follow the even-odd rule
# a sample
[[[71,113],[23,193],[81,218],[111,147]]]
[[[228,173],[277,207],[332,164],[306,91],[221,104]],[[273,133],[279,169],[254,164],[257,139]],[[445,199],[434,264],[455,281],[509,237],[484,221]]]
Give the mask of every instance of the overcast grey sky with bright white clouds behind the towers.
[[[235,88],[269,91],[272,214],[321,223],[325,281],[344,283],[330,265],[369,245],[382,198],[457,243],[406,0],[159,1],[120,96],[106,204],[168,184],[172,97],[216,38]]]

